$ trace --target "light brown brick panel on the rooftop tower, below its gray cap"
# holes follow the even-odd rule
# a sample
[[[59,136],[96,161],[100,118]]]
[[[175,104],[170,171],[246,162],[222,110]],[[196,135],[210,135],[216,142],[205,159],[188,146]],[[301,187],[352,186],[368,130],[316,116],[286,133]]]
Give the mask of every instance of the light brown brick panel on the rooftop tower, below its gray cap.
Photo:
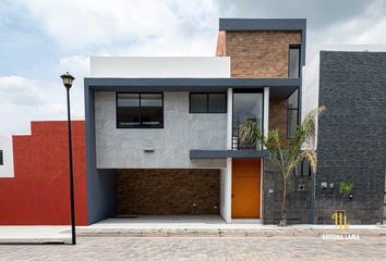
[[[287,78],[289,45],[300,42],[297,32],[227,32],[231,77]]]

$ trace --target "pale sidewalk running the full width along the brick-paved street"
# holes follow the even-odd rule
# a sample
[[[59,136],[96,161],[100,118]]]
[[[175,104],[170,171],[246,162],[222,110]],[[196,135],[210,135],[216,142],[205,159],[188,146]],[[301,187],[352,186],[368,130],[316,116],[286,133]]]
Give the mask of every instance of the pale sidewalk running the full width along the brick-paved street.
[[[386,236],[385,225],[350,225],[348,232],[335,225],[277,225],[245,223],[129,222],[109,219],[77,226],[79,237],[321,237],[324,234]],[[70,226],[0,226],[0,244],[63,244],[71,240]]]

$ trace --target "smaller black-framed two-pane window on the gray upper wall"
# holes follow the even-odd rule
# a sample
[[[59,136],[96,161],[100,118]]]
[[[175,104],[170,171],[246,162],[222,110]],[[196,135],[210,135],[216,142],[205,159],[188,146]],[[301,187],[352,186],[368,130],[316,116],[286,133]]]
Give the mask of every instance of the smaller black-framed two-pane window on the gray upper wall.
[[[191,92],[189,103],[191,113],[226,113],[227,94]]]

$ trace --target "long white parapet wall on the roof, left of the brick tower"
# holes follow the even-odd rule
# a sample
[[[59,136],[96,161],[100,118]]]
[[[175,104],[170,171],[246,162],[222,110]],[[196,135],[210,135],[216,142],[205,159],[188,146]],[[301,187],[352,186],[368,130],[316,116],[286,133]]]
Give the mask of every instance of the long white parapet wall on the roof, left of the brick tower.
[[[230,58],[92,57],[91,77],[230,77]]]

